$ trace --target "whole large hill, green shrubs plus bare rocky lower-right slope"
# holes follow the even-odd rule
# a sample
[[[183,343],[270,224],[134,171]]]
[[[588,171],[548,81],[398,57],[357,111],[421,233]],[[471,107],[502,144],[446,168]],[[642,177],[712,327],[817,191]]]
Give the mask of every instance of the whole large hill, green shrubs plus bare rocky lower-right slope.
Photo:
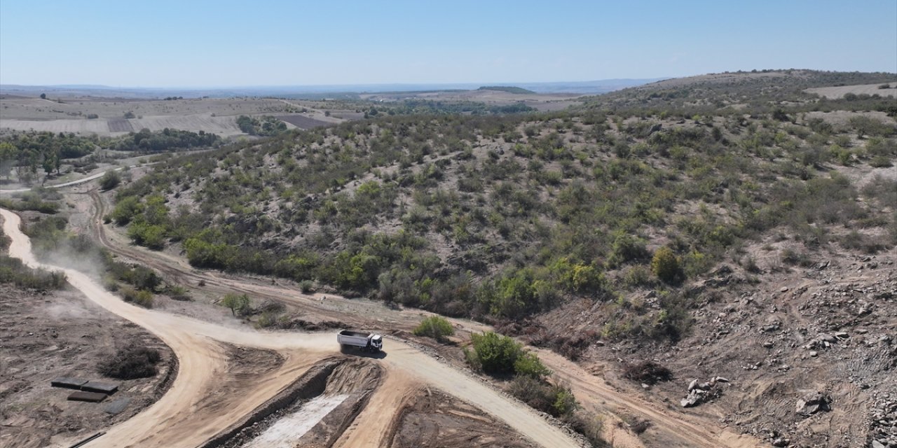
[[[106,219],[195,267],[493,323],[649,401],[697,379],[694,412],[771,443],[897,444],[897,110],[806,93],[893,79],[721,73],[518,115],[370,106],[165,160]],[[565,396],[515,381],[546,412]],[[794,412],[813,391],[835,410]]]

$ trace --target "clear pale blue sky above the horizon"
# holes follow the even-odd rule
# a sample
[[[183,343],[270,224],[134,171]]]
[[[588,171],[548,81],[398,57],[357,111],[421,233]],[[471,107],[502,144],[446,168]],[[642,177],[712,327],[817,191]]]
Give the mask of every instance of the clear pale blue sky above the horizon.
[[[0,83],[552,82],[897,72],[895,0],[0,0]]]

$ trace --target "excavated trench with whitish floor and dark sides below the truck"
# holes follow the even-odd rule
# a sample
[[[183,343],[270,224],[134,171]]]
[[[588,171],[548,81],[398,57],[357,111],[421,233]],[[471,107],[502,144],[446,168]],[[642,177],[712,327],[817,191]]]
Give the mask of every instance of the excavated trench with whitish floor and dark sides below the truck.
[[[333,446],[364,409],[381,374],[371,359],[324,359],[202,448]]]

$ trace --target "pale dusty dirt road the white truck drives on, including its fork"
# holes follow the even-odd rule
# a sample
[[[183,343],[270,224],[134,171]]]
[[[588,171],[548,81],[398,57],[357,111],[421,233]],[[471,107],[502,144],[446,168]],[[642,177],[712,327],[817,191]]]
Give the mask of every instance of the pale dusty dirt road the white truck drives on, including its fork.
[[[127,304],[80,271],[37,262],[31,254],[28,237],[19,228],[21,220],[18,215],[4,209],[0,209],[0,215],[4,218],[4,233],[12,240],[9,248],[11,256],[21,258],[31,267],[65,271],[74,288],[112,313],[156,334],[179,358],[178,376],[169,392],[134,418],[113,426],[106,435],[91,443],[92,446],[197,446],[282,391],[315,361],[337,351],[338,346],[329,333],[262,333],[231,329]],[[216,383],[226,373],[227,360],[220,342],[277,349],[285,360],[279,370],[246,382],[246,389],[234,394],[231,400],[225,398],[224,401],[217,401],[216,406],[205,406],[205,397],[213,394]],[[547,447],[578,446],[568,435],[536,413],[421,351],[398,340],[390,340],[388,350],[387,358],[384,358],[388,372],[412,376],[470,401],[536,444]],[[369,415],[379,412],[391,416],[394,412],[390,411],[396,410],[378,409],[376,403],[369,408],[365,412]],[[377,425],[357,425],[345,436],[349,440],[370,441],[373,445],[379,445],[382,442],[381,429]]]

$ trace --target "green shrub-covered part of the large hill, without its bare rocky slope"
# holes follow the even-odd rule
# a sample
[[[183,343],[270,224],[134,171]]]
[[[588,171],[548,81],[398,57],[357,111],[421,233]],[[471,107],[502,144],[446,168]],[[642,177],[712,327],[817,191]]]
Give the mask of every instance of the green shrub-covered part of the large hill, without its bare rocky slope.
[[[844,174],[893,169],[891,105],[802,93],[850,76],[862,78],[731,74],[552,115],[387,116],[284,134],[172,161],[121,189],[128,206],[110,218],[180,245],[195,266],[522,322],[501,328],[570,358],[614,356],[601,342],[638,362],[708,338],[710,304],[778,288],[772,274],[893,251],[893,176],[861,188]],[[832,111],[854,115],[813,115]],[[690,371],[666,363],[676,378]]]

